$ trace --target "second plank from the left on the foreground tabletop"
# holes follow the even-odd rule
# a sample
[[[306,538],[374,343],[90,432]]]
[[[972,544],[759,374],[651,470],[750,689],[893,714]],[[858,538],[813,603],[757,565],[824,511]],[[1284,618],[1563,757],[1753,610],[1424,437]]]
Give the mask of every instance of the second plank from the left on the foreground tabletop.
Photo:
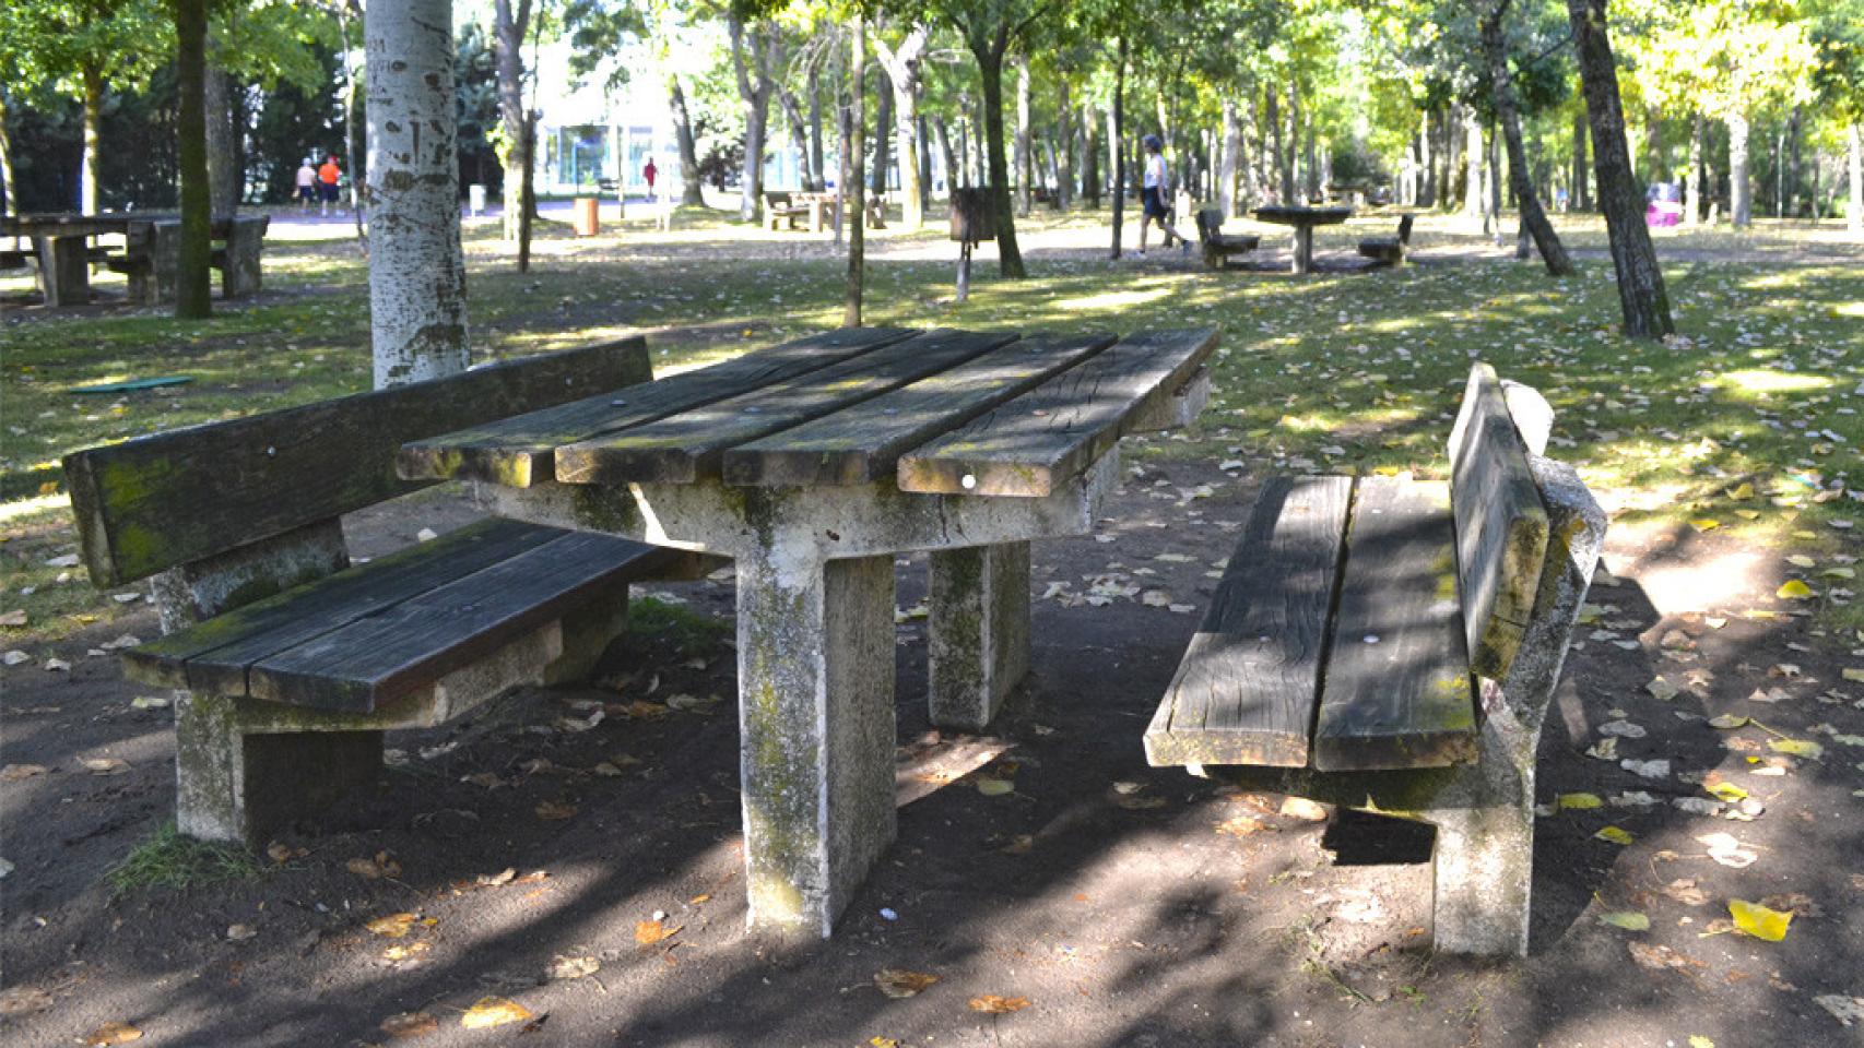
[[[788,382],[559,447],[557,478],[569,484],[684,484],[716,477],[731,447],[861,404],[1012,339],[1014,333],[926,331]]]

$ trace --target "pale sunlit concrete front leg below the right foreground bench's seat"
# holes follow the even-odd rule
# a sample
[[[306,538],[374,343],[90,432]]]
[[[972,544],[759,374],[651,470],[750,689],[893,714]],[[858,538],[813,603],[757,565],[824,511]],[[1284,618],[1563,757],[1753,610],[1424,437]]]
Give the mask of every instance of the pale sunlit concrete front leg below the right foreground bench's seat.
[[[1527,957],[1534,882],[1528,804],[1424,812],[1437,826],[1435,942],[1445,953]]]

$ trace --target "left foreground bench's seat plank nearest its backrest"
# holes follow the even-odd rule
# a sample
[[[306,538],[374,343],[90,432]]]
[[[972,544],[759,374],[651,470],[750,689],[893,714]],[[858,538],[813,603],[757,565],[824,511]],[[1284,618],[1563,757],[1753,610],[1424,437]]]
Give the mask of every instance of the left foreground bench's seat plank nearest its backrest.
[[[567,532],[488,519],[123,652],[123,672],[201,694],[248,694],[246,668],[295,644],[535,549]]]

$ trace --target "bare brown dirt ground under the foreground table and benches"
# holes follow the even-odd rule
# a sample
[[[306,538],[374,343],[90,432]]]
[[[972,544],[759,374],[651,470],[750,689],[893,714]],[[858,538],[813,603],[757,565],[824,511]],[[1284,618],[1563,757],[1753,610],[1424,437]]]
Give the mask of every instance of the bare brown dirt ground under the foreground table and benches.
[[[1144,763],[1141,732],[1253,493],[1212,465],[1130,469],[1098,534],[1038,544],[1035,670],[980,741],[926,724],[925,562],[902,560],[902,759],[1007,748],[906,804],[835,936],[803,951],[744,931],[729,633],[630,635],[600,685],[395,735],[378,786],[272,841],[283,862],[265,875],[121,897],[106,871],[173,812],[171,713],[138,709],[149,689],[99,646],[153,637],[155,614],[32,646],[0,670],[4,763],[45,769],[0,793],[0,1041],[82,1044],[121,1022],[164,1046],[1864,1044],[1864,1024],[1817,1003],[1864,998],[1864,685],[1842,678],[1857,638],[1791,616],[1773,557],[1614,532],[1542,745],[1532,955],[1473,964],[1428,951],[1428,830],[1310,821]],[[349,525],[367,555],[468,516],[427,497]],[[1044,598],[1094,579],[1139,594]],[[731,616],[729,577],[664,592]],[[1659,674],[1676,696],[1646,689]],[[1720,713],[1765,728],[1706,722]],[[1605,739],[1616,759],[1584,752]],[[99,758],[127,769],[88,771]],[[1678,808],[1707,800],[1704,773],[1745,787],[1750,813]],[[1014,789],[986,795],[980,776]],[[1622,804],[1635,791],[1650,804]],[[1569,793],[1605,804],[1558,806]],[[1635,841],[1597,838],[1607,825]],[[1782,942],[1728,933],[1728,899],[1795,920]],[[1633,910],[1648,931],[1601,921]],[[371,931],[395,914],[412,920],[375,929],[404,934]],[[882,970],[938,981],[895,998]],[[464,1026],[488,996],[529,1018]],[[984,996],[1027,1007],[975,1011]]]

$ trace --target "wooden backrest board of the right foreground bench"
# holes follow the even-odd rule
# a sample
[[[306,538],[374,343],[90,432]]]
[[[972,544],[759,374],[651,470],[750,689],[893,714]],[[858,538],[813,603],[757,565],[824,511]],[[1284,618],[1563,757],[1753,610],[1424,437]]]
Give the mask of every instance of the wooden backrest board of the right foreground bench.
[[[1495,369],[1476,363],[1450,430],[1456,592],[1469,668],[1501,679],[1521,648],[1547,557],[1547,506]]]

